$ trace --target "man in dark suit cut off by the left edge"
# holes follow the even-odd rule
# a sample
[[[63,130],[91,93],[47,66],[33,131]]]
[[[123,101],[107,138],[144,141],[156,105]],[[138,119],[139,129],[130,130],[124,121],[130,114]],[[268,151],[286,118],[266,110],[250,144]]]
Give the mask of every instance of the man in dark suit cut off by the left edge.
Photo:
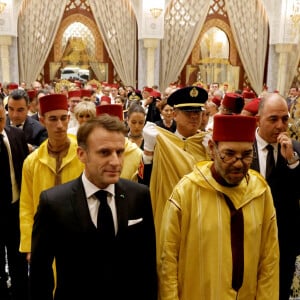
[[[5,108],[0,103],[0,299],[28,299],[28,265],[19,252],[19,197],[22,165],[28,147],[22,130],[6,126]],[[6,255],[11,279],[11,293],[7,286]],[[10,294],[12,298],[10,297]]]

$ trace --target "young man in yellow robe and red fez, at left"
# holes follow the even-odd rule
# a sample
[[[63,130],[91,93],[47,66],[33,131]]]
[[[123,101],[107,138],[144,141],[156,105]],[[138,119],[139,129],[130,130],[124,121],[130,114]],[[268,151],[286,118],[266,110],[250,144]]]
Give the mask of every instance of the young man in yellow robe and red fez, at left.
[[[48,139],[23,164],[20,196],[20,251],[30,261],[31,233],[40,193],[79,176],[84,165],[77,157],[77,141],[67,135],[68,102],[65,95],[40,98],[40,120]]]

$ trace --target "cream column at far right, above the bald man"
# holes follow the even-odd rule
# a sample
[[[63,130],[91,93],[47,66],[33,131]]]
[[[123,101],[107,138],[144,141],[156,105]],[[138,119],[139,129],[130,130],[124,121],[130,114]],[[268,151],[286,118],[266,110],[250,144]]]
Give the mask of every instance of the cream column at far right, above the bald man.
[[[279,54],[278,57],[278,75],[277,75],[277,89],[281,94],[286,94],[287,74],[290,72],[289,53],[294,49],[294,44],[276,44],[275,50]]]

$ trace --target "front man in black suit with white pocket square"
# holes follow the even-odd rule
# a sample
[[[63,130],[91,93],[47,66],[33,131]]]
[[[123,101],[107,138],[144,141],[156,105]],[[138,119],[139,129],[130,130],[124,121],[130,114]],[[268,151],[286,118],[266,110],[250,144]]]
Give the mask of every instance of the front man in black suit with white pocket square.
[[[30,263],[32,300],[156,300],[155,231],[145,185],[120,179],[125,126],[102,115],[77,133],[83,174],[41,193]],[[104,194],[101,196],[99,194]]]

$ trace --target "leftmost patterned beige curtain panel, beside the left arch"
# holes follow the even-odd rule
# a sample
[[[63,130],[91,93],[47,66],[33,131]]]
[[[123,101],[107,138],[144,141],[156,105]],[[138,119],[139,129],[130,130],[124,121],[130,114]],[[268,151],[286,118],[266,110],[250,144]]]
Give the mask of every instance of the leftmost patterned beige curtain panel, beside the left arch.
[[[49,55],[67,0],[24,0],[18,20],[20,80],[35,81]]]

